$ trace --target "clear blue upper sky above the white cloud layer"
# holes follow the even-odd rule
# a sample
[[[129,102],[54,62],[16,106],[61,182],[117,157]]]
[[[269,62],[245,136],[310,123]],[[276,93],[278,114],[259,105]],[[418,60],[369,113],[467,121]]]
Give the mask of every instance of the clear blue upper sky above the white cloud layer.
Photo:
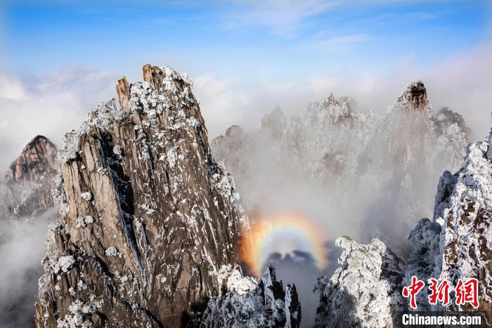
[[[228,79],[434,65],[491,37],[491,1],[7,1],[3,67],[142,63]],[[131,68],[130,68],[131,67]]]

